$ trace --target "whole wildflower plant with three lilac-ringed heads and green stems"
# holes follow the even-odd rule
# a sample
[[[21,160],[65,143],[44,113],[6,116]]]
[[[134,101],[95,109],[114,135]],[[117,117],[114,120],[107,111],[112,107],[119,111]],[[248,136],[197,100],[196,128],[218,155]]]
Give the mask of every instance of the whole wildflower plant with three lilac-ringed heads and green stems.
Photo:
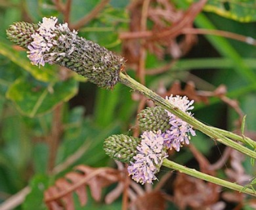
[[[128,173],[142,184],[156,180],[161,165],[187,175],[207,180],[233,190],[255,196],[252,189],[218,179],[179,165],[167,159],[167,150],[181,150],[189,144],[190,135],[195,130],[230,148],[234,148],[251,158],[256,158],[255,142],[247,137],[223,131],[203,124],[195,119],[190,110],[194,101],[186,96],[161,98],[127,74],[123,74],[124,59],[98,44],[77,35],[77,31],[68,28],[68,24],[56,24],[57,18],[43,18],[39,24],[16,22],[7,30],[7,37],[16,45],[28,50],[32,64],[44,66],[45,63],[58,64],[87,77],[89,81],[111,89],[116,83],[123,83],[153,100],[154,108],[146,108],[139,114],[142,135],[139,138],[125,135],[108,137],[104,150],[110,157],[128,163]],[[239,144],[249,144],[253,150]]]

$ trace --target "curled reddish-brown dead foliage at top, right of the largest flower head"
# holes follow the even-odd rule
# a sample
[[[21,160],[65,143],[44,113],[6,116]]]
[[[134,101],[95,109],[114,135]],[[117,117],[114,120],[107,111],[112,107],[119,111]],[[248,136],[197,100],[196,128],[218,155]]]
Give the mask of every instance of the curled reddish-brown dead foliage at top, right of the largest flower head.
[[[119,35],[120,39],[123,39],[123,55],[127,58],[127,62],[139,65],[141,47],[156,54],[158,58],[163,58],[165,54],[180,58],[186,54],[196,42],[196,35],[182,35],[184,34],[182,30],[193,27],[194,18],[202,11],[206,1],[201,0],[192,4],[186,12],[177,10],[170,1],[150,1],[147,18],[152,22],[152,28],[146,30],[141,24],[143,2],[140,0],[131,3],[130,31]]]

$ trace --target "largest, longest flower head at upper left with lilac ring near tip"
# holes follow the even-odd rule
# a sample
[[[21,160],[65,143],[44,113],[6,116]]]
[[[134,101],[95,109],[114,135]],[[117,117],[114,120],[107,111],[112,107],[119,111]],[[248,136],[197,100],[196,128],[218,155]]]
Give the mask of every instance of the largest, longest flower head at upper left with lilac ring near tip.
[[[68,24],[57,26],[56,22],[57,18],[51,17],[43,18],[37,25],[15,23],[7,30],[7,36],[16,45],[28,49],[28,58],[34,65],[58,64],[87,77],[99,87],[114,87],[124,66],[123,58],[78,37]]]

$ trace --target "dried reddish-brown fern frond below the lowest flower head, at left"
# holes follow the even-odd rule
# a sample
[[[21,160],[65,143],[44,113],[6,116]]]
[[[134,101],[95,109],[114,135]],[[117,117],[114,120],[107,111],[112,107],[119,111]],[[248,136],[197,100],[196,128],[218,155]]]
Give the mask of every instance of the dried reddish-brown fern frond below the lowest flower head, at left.
[[[78,165],[75,171],[56,180],[54,186],[45,191],[45,203],[51,210],[74,209],[73,193],[77,194],[81,206],[87,203],[86,186],[89,186],[91,196],[99,201],[102,188],[121,181],[121,171],[108,167],[93,168]]]

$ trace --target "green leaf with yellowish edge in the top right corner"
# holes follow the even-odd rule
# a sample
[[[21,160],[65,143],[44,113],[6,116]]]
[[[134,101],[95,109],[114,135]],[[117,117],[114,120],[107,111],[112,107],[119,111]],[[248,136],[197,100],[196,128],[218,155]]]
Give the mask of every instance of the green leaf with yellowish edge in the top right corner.
[[[195,0],[190,2],[196,2]],[[240,22],[256,20],[256,5],[254,0],[209,0],[203,8],[207,12],[215,12],[225,18]]]

